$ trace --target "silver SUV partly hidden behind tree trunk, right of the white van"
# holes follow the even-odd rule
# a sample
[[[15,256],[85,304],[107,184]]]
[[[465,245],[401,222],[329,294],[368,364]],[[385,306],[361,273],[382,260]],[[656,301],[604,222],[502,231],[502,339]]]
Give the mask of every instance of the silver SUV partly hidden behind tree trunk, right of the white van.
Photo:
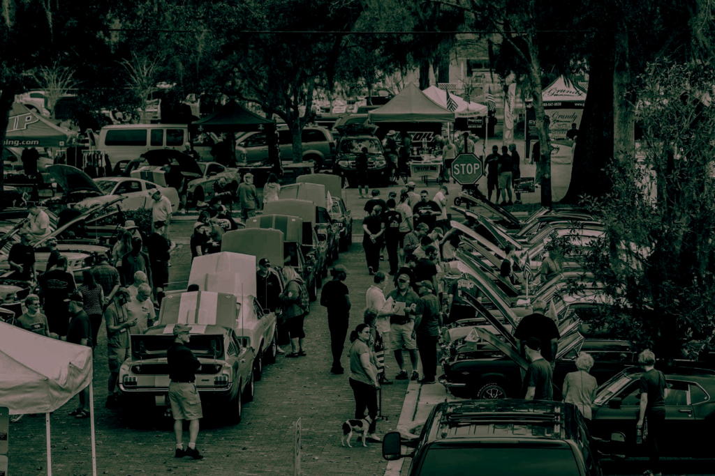
[[[314,161],[316,170],[331,166],[335,156],[335,139],[326,128],[306,126],[303,128],[303,161]],[[293,134],[287,127],[278,128],[280,156],[284,161],[293,158]],[[268,158],[268,145],[263,131],[247,132],[236,139],[236,156],[246,154],[249,163]]]

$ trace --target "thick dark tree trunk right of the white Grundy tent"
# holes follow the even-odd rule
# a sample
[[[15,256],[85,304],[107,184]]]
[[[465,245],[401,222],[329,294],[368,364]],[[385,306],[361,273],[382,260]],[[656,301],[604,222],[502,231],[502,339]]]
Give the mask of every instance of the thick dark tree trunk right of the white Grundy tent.
[[[604,168],[613,156],[613,62],[596,54],[588,59],[588,65],[588,94],[578,128],[571,181],[561,199],[561,203],[570,205],[578,205],[582,196],[602,197],[611,191],[611,178]]]

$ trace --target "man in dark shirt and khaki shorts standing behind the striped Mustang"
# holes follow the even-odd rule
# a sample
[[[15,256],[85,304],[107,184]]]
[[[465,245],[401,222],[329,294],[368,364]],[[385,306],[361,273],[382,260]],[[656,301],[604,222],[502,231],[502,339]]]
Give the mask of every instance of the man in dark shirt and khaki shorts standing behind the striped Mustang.
[[[167,365],[169,367],[169,402],[174,416],[174,436],[177,449],[174,457],[190,456],[201,460],[203,456],[196,449],[196,439],[199,436],[199,418],[204,416],[201,408],[201,397],[196,388],[196,371],[201,368],[199,359],[189,349],[189,333],[191,328],[184,324],[174,324],[174,343],[167,350]],[[240,398],[237,395],[236,398]],[[184,450],[182,437],[184,420],[189,420],[189,446]]]

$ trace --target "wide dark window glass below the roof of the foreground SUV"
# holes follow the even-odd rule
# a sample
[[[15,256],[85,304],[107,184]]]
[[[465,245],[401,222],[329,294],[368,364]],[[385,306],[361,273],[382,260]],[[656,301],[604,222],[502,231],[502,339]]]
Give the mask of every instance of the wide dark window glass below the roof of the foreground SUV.
[[[576,458],[561,445],[460,445],[430,448],[420,475],[577,476]]]

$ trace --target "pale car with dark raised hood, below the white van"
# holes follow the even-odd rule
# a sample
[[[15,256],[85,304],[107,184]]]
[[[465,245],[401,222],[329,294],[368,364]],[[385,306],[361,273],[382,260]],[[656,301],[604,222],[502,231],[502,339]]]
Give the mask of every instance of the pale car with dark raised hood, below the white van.
[[[159,189],[169,198],[172,211],[179,207],[179,194],[173,188],[161,187],[140,178],[109,177],[92,179],[72,166],[56,165],[47,168],[54,181],[61,187],[60,198],[48,198],[44,203],[66,203],[71,206],[95,206],[117,197],[123,197],[119,206],[124,210],[152,208],[152,193]]]

